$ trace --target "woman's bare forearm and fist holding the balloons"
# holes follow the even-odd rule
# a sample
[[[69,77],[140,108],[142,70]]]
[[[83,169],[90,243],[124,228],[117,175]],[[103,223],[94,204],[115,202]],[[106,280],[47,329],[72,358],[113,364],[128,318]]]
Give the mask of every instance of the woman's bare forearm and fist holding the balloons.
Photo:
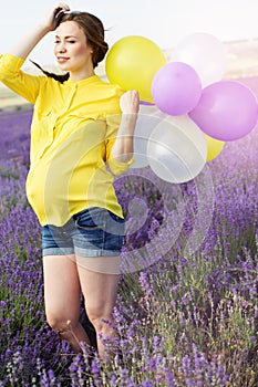
[[[128,91],[120,100],[122,121],[111,155],[114,159],[127,163],[134,153],[134,130],[137,121],[140,97],[136,91]]]

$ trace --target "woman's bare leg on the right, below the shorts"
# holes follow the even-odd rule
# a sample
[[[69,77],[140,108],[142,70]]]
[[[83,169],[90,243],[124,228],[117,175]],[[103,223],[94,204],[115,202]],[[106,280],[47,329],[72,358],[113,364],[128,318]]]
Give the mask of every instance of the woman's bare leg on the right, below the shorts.
[[[117,336],[113,323],[113,308],[118,284],[117,262],[117,257],[78,258],[78,272],[85,299],[85,308],[96,331],[97,352],[102,359],[105,357],[105,348],[100,334],[103,338],[111,339]],[[109,271],[109,269],[112,270]],[[110,324],[103,320],[109,321]]]

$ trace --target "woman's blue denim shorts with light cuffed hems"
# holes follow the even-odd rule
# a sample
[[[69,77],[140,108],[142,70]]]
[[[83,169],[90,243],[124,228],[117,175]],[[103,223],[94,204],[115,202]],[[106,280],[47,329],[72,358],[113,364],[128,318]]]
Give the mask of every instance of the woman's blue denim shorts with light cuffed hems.
[[[42,227],[44,255],[117,257],[124,239],[125,221],[105,208],[82,210],[62,227]]]

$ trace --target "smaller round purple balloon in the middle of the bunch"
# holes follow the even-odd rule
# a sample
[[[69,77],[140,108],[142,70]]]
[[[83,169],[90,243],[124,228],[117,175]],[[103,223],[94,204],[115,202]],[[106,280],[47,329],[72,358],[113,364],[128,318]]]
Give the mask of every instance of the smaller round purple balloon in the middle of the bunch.
[[[152,95],[157,107],[169,115],[192,111],[202,95],[196,71],[186,63],[171,62],[159,69],[153,79]]]

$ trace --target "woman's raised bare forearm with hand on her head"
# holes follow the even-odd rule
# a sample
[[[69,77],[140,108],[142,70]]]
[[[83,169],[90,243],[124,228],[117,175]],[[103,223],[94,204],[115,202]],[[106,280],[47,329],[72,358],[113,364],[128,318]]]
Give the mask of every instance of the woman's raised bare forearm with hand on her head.
[[[60,11],[69,11],[69,6],[64,3],[59,3],[53,9],[49,11],[44,20],[38,24],[38,27],[25,38],[23,38],[17,45],[14,45],[9,53],[27,59],[30,52],[34,49],[34,46],[41,41],[41,39],[50,31],[55,29],[55,15]]]

